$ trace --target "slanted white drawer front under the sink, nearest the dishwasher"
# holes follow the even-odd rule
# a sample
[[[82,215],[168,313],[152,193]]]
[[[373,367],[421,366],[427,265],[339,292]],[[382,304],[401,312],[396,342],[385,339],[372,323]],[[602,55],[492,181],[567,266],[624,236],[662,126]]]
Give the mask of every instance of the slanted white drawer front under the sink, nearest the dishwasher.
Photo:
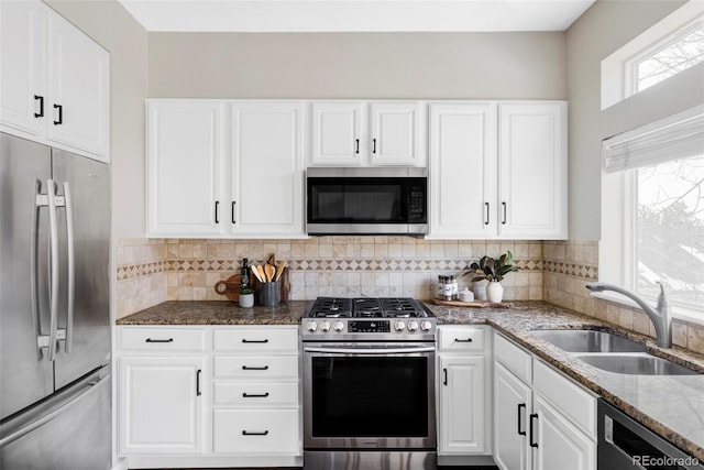
[[[542,361],[535,361],[532,372],[532,390],[596,438],[596,397]]]

